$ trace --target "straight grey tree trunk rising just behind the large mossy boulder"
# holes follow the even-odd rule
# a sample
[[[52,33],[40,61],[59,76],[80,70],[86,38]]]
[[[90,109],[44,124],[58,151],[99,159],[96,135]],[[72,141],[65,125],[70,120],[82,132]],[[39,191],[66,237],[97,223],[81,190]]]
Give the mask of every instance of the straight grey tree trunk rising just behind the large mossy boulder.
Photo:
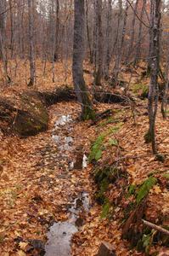
[[[30,59],[30,82],[28,86],[32,86],[35,83],[35,53],[34,53],[34,22],[33,22],[33,1],[28,0],[28,12],[29,12],[29,59]]]

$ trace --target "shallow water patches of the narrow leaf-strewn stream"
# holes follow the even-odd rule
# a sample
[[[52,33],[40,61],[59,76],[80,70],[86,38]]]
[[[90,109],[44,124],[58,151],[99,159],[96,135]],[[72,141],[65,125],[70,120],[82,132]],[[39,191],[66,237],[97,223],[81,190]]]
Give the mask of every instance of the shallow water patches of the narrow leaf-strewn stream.
[[[70,115],[62,115],[55,121],[52,138],[56,143],[59,154],[65,155],[68,170],[74,169],[75,159],[70,159],[70,152],[74,151],[74,139],[67,136],[73,130],[74,121]],[[65,132],[63,132],[65,131]],[[66,136],[65,136],[66,134]],[[87,157],[83,154],[82,169],[87,167]],[[45,256],[69,256],[71,251],[71,238],[81,228],[84,216],[89,210],[87,192],[82,192],[74,201],[70,199],[68,212],[70,218],[64,222],[55,222],[48,231],[48,242],[45,246]]]

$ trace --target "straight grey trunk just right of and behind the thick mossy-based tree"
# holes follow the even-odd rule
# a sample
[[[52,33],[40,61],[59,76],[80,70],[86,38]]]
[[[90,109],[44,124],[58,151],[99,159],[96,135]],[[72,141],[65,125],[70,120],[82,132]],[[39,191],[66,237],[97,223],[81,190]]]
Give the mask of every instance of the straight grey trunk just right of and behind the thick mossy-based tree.
[[[97,60],[98,67],[95,74],[95,84],[101,85],[101,79],[103,76],[103,32],[102,32],[102,0],[96,2],[96,15],[97,15],[97,33],[98,33],[98,52]]]

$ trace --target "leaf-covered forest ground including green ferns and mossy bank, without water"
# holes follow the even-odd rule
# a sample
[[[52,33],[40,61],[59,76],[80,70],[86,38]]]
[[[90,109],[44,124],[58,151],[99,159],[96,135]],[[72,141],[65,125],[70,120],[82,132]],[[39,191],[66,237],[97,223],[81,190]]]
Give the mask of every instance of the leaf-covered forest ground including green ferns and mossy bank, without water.
[[[55,68],[56,82],[52,83],[50,65],[43,79],[41,64],[39,69],[37,65],[36,90],[72,84],[70,68],[65,70],[62,64]],[[3,87],[3,96],[16,97],[27,90],[21,74],[20,70],[14,84]],[[76,102],[59,102],[48,108],[48,131],[25,138],[1,133],[1,255],[39,255],[41,248],[32,241],[45,243],[48,227],[69,217],[70,202],[83,191],[89,193],[91,207],[82,212],[84,224],[73,237],[72,255],[96,255],[102,241],[113,244],[116,255],[169,255],[168,237],[142,222],[144,218],[169,227],[168,118],[162,119],[159,109],[156,136],[160,157],[156,158],[144,140],[149,127],[147,99],[138,97],[143,87],[145,92],[148,79],[138,77],[131,78],[125,71],[121,75],[131,83],[134,106],[95,102],[98,113],[111,109],[106,119],[82,122]],[[91,73],[86,73],[85,79],[92,88]],[[121,87],[119,91],[123,93]],[[66,124],[70,129],[61,128],[55,135],[74,140],[65,154],[59,152],[53,138],[54,124],[62,115],[70,115],[72,122]],[[68,162],[82,154],[88,156],[87,168],[70,170]]]

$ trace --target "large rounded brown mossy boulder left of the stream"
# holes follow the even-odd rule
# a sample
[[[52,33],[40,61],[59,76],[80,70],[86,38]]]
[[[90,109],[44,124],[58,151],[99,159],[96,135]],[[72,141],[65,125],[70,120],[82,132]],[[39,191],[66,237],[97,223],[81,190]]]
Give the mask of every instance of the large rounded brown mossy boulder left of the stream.
[[[32,136],[48,129],[48,111],[38,91],[25,91],[13,99],[0,99],[0,128],[3,133]]]

